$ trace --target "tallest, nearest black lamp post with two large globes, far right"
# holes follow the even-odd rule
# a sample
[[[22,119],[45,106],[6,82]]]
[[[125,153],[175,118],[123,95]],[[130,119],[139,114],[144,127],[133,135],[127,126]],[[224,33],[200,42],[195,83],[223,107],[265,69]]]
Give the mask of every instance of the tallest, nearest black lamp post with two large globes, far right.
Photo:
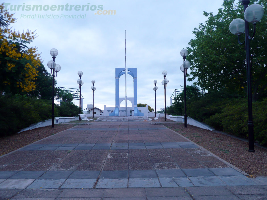
[[[237,35],[238,43],[240,45],[245,44],[246,48],[246,62],[247,62],[247,95],[248,95],[248,129],[249,129],[249,151],[255,152],[254,150],[254,130],[253,130],[253,116],[252,116],[252,92],[251,92],[251,65],[250,65],[250,47],[249,40],[255,36],[256,33],[256,22],[259,22],[264,14],[264,10],[259,4],[252,4],[250,6],[250,0],[239,0],[241,1],[241,5],[244,6],[244,16],[245,21],[243,19],[235,19],[230,25],[229,29],[231,33]],[[253,35],[249,36],[249,22],[253,24]],[[245,31],[245,41],[243,43],[240,42],[240,34]]]

